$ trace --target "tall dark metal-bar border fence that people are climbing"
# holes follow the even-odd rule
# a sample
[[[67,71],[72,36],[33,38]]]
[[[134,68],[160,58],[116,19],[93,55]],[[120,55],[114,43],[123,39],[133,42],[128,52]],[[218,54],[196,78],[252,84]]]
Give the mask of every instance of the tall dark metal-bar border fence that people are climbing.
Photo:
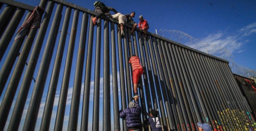
[[[0,0],[0,9],[1,131],[126,130],[119,109],[132,101],[132,54],[144,68],[142,123],[157,109],[164,131],[196,131],[197,122],[256,129],[255,105],[244,99],[227,60],[150,32],[130,34],[127,24],[121,39],[116,20],[102,17],[95,26],[95,12],[62,0],[38,7]]]

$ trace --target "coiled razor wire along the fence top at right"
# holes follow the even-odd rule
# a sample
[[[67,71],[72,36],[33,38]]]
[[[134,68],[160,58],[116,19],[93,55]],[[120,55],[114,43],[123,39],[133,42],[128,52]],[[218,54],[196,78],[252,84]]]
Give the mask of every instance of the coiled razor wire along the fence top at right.
[[[256,71],[251,70],[247,67],[239,66],[234,62],[234,56],[228,49],[222,46],[210,45],[204,42],[201,39],[195,39],[191,35],[182,32],[180,30],[159,30],[159,35],[171,39],[180,44],[186,45],[193,49],[200,50],[207,54],[214,55],[216,57],[220,57],[222,59],[228,60],[231,71],[234,74],[238,74],[244,77],[255,77]]]

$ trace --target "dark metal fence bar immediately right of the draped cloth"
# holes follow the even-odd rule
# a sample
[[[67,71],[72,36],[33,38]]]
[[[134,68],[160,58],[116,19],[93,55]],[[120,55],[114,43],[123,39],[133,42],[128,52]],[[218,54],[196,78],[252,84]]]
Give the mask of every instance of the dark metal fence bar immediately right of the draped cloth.
[[[46,1],[44,1],[46,2]],[[44,7],[46,6],[46,3],[43,3]],[[31,80],[33,78],[33,74],[35,71],[35,67],[36,67],[36,63],[39,57],[39,52],[41,50],[42,47],[42,43],[43,43],[43,39],[45,37],[45,32],[47,30],[47,26],[50,20],[50,16],[52,14],[52,9],[54,7],[54,2],[49,2],[47,9],[46,9],[46,14],[43,18],[42,24],[41,24],[41,28],[38,32],[38,37],[35,40],[35,44],[34,47],[32,49],[31,52],[31,57],[29,59],[28,62],[28,67],[26,69],[26,72],[24,74],[22,83],[21,83],[21,87],[20,87],[20,91],[17,97],[17,101],[16,104],[14,106],[14,110],[11,116],[11,120],[8,126],[8,130],[17,130],[19,126],[15,126],[15,125],[19,125],[20,121],[21,121],[21,117],[22,117],[22,110],[24,109],[25,103],[26,103],[26,98],[28,97],[28,92],[29,92],[29,87],[31,85]],[[22,39],[22,38],[21,38]],[[21,41],[20,41],[21,42]],[[17,43],[16,43],[17,44]]]

